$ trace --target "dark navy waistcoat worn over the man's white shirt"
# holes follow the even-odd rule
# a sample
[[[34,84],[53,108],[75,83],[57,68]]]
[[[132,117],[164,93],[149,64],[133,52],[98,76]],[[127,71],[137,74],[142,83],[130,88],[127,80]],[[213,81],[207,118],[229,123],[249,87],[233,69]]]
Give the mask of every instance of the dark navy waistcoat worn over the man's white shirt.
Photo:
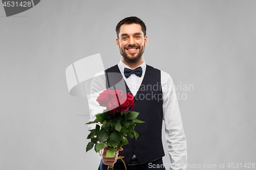
[[[130,92],[126,83],[117,87],[123,77],[117,65],[105,70],[106,88],[115,86],[115,89]],[[112,87],[113,90],[113,87]],[[118,156],[124,156],[125,164],[129,164],[133,155],[136,155],[140,164],[148,163],[164,156],[162,145],[163,102],[161,89],[161,72],[152,66],[146,65],[146,71],[141,86],[134,96],[135,107],[132,111],[139,112],[137,119],[145,123],[136,123],[135,131],[139,134],[137,140],[126,136],[129,144],[123,145],[123,151]],[[116,163],[122,163],[119,159]]]

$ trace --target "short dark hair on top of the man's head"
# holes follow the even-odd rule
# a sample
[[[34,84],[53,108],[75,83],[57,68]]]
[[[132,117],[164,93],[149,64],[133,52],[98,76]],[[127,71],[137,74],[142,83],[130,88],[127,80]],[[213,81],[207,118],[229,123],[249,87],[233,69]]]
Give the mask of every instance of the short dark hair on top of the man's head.
[[[146,35],[146,25],[145,23],[138,17],[136,16],[130,16],[130,17],[126,17],[122,20],[120,20],[118,22],[118,24],[116,25],[116,35],[117,38],[119,39],[119,32],[120,32],[120,27],[124,24],[132,24],[132,23],[137,23],[141,26],[142,32],[144,34],[144,36]]]

